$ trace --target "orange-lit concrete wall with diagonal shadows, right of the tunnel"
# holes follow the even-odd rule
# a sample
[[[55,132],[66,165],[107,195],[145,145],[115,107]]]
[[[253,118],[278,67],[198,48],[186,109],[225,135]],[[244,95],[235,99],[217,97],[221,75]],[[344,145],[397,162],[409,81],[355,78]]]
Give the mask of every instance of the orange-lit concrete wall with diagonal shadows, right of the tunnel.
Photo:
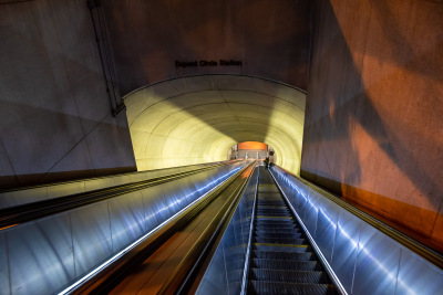
[[[301,176],[443,251],[443,3],[317,0]]]

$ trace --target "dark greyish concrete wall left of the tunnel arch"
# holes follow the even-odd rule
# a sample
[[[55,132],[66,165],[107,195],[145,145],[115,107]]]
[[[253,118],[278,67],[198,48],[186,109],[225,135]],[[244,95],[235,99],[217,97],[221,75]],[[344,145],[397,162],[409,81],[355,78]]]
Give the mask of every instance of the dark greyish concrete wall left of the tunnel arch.
[[[0,4],[0,187],[135,170],[83,0]]]

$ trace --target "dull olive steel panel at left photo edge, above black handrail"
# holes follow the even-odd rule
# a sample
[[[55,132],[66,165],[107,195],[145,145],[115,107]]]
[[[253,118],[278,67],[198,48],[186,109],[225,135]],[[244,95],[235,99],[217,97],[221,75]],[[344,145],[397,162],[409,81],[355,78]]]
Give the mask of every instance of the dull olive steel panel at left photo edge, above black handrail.
[[[23,203],[31,203],[48,198],[47,188],[34,188],[29,190],[16,190],[0,193],[0,209],[10,208]]]

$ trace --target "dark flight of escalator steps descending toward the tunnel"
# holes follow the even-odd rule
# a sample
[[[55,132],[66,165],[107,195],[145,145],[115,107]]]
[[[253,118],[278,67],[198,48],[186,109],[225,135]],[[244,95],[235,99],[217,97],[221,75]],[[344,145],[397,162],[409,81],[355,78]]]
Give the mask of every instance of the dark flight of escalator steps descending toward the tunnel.
[[[248,294],[337,294],[271,176],[260,167]]]

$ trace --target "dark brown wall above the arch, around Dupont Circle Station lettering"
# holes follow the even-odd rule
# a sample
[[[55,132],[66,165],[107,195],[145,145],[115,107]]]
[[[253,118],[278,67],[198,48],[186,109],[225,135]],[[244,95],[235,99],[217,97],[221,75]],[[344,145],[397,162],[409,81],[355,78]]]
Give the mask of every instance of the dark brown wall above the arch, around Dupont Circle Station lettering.
[[[103,1],[122,94],[197,74],[253,75],[306,89],[309,2]],[[220,59],[241,61],[241,66],[175,65]]]

